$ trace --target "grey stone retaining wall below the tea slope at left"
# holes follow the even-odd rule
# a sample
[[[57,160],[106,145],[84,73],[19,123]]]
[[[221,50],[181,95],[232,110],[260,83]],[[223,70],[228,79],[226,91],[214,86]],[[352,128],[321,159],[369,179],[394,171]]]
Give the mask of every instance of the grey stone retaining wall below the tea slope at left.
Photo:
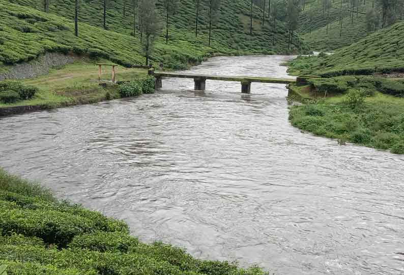
[[[76,59],[75,56],[61,53],[45,53],[36,60],[10,66],[7,73],[0,73],[0,81],[46,75],[52,67],[63,66],[74,62]]]

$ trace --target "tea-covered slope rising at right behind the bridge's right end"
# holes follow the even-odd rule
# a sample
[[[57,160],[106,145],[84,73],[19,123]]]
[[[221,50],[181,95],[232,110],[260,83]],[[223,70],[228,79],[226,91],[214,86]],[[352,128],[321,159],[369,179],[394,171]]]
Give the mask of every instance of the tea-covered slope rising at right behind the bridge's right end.
[[[330,56],[300,57],[291,62],[291,72],[339,75],[370,75],[404,72],[404,22],[372,33]]]

